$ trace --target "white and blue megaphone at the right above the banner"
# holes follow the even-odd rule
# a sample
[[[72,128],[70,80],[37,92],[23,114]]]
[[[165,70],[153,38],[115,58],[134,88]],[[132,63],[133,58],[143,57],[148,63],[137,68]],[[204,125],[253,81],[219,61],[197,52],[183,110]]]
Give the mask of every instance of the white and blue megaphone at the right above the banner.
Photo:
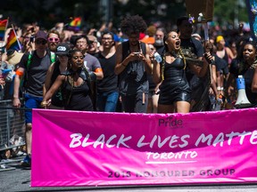
[[[243,76],[238,76],[236,78],[236,87],[237,87],[237,100],[235,104],[235,108],[250,108],[252,107],[252,103],[247,99],[245,94],[245,78]]]

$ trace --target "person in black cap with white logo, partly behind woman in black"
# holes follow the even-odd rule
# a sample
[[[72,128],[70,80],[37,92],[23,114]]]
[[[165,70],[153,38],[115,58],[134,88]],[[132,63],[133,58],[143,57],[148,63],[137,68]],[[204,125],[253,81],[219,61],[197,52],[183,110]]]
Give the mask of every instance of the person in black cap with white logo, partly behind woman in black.
[[[69,56],[70,46],[67,43],[58,44],[55,54],[57,55],[58,60],[56,60],[50,68],[48,68],[46,74],[46,82],[44,84],[44,95],[54,84],[55,79],[61,73],[65,72],[68,66],[68,56]],[[51,109],[62,109],[63,100],[62,92],[59,89],[57,92],[54,92],[54,96],[51,99]]]

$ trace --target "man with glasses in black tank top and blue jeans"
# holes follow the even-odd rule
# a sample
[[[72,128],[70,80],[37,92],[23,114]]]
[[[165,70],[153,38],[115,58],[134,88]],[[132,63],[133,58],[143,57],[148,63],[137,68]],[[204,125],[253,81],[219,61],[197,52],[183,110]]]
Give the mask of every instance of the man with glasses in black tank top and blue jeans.
[[[103,51],[95,55],[103,68],[104,78],[96,83],[96,109],[98,111],[115,112],[119,99],[118,76],[114,73],[116,48],[112,32],[102,34]]]

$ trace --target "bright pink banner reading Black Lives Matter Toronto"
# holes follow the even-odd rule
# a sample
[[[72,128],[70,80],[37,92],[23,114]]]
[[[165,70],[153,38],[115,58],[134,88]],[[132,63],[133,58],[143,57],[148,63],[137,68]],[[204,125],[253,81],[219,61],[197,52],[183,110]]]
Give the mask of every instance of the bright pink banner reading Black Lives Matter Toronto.
[[[31,186],[256,182],[256,116],[33,110]]]

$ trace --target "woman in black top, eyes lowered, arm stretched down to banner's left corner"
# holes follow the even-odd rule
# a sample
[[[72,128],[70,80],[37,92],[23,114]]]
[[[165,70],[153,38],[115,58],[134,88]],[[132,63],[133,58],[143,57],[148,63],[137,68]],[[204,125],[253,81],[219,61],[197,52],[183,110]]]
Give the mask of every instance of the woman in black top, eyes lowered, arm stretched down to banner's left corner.
[[[93,104],[90,99],[90,76],[84,66],[84,55],[79,50],[71,50],[69,53],[69,65],[66,72],[57,76],[44,99],[41,102],[43,108],[49,106],[50,100],[61,86],[64,109],[92,111]]]

